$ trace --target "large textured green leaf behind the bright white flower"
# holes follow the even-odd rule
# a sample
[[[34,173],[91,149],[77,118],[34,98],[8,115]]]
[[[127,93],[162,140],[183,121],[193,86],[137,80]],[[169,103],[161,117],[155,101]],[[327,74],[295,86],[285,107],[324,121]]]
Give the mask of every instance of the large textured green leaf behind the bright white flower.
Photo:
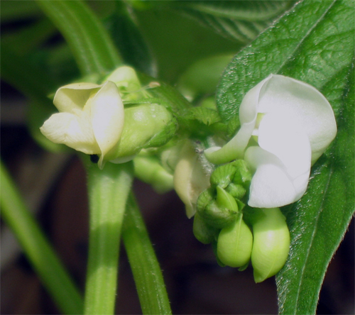
[[[224,121],[271,73],[312,84],[337,117],[334,144],[312,168],[307,193],[283,209],[291,233],[277,277],[281,314],[315,313],[324,274],[354,214],[354,1],[302,1],[242,50],[217,90]]]

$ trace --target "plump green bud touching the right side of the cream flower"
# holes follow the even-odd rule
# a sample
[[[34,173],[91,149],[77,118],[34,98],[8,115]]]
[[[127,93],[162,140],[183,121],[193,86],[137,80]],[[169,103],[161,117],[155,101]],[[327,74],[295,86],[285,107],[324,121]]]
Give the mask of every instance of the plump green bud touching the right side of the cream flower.
[[[124,109],[124,130],[119,143],[106,155],[111,162],[126,162],[142,148],[164,145],[175,134],[175,118],[164,106],[140,104]]]

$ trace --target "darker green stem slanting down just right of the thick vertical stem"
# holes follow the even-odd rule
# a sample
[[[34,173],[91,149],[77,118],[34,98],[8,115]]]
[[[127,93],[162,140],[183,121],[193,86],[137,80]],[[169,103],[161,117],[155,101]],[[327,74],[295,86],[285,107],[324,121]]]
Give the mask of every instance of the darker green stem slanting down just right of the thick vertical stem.
[[[133,194],[129,196],[122,238],[143,314],[171,314],[163,275]]]

